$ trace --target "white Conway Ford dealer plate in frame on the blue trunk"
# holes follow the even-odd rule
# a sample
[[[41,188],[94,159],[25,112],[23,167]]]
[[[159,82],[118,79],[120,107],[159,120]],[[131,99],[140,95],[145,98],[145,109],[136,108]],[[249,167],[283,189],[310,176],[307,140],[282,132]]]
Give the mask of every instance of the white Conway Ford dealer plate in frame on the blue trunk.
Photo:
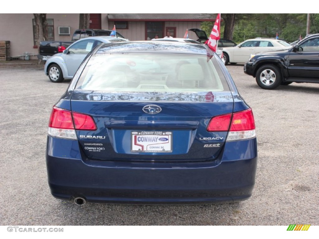
[[[131,131],[131,152],[171,153],[172,139],[170,131]]]

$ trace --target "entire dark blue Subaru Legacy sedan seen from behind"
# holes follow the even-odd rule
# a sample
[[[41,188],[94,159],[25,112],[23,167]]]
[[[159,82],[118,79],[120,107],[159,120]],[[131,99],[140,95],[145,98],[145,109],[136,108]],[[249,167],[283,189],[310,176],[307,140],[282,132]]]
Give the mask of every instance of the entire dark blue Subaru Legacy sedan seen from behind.
[[[78,205],[242,201],[254,116],[203,44],[101,44],[52,109],[46,160],[52,195]]]

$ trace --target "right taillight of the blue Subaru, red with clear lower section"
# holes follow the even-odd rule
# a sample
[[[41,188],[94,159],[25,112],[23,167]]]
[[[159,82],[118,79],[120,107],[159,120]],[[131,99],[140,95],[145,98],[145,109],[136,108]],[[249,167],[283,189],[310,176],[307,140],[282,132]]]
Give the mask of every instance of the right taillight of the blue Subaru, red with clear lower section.
[[[256,137],[255,120],[252,110],[235,112],[213,117],[207,131],[228,131],[227,141],[250,139]]]

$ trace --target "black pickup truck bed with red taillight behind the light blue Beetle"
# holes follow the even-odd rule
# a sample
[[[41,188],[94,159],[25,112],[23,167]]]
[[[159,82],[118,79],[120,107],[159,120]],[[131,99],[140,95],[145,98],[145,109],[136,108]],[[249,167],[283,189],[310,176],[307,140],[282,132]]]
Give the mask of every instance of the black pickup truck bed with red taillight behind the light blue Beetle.
[[[37,57],[39,60],[46,61],[54,54],[63,52],[72,43],[71,41],[41,41]]]

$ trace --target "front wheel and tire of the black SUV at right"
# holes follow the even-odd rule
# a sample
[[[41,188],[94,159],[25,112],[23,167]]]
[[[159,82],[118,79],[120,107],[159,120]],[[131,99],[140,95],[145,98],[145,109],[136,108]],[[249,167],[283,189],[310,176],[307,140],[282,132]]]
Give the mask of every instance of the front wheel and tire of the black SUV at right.
[[[266,90],[272,90],[282,83],[281,73],[277,66],[263,65],[256,72],[257,84]]]

